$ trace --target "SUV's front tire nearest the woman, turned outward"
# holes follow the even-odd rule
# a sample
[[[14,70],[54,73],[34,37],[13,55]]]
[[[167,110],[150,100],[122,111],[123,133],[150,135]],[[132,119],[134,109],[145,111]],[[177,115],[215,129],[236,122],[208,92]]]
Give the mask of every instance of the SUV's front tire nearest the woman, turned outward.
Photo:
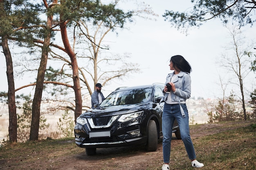
[[[148,122],[148,142],[146,145],[147,151],[157,150],[158,135],[157,135],[157,125],[154,120]]]

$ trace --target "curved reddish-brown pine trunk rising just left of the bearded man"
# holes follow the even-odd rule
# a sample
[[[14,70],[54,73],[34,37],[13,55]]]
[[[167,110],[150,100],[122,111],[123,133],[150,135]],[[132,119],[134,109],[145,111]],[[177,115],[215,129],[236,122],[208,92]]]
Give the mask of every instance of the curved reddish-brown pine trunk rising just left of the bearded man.
[[[76,103],[74,121],[76,122],[76,118],[78,118],[82,113],[82,95],[81,95],[81,86],[80,86],[80,80],[79,80],[79,71],[78,71],[78,64],[76,60],[76,54],[72,50],[70,43],[68,41],[66,24],[67,24],[66,22],[61,21],[61,24],[60,24],[61,37],[62,37],[63,44],[65,46],[65,50],[67,51],[67,54],[70,57],[71,65],[72,65],[73,82],[74,82],[73,89],[75,92],[75,103]]]

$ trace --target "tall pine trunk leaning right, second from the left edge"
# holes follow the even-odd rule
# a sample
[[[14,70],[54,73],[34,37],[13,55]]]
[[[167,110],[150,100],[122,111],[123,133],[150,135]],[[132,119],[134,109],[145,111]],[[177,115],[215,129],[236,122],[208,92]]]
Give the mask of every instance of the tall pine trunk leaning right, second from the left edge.
[[[42,100],[42,93],[43,93],[43,84],[45,78],[45,70],[47,65],[48,53],[49,53],[49,45],[51,40],[51,26],[52,26],[52,16],[47,17],[47,35],[45,36],[43,48],[42,48],[42,55],[40,66],[38,68],[38,74],[36,79],[36,89],[34,100],[32,103],[32,120],[30,126],[30,135],[29,140],[34,141],[38,140],[38,133],[39,133],[39,124],[40,124],[40,105]]]

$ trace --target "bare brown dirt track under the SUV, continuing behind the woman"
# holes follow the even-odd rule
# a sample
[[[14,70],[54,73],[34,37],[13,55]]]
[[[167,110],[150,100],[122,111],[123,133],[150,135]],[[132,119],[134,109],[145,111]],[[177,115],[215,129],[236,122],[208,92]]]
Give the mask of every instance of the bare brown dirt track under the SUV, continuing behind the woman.
[[[190,129],[191,138],[196,139],[209,134],[231,130],[238,127],[247,126],[252,122],[227,122],[225,124],[201,124]],[[175,136],[175,135],[174,135]],[[65,141],[73,142],[73,141]],[[183,145],[181,140],[173,138],[174,146]],[[148,165],[155,164],[162,166],[162,140],[159,140],[155,152],[146,152],[143,147],[119,147],[119,148],[97,148],[97,155],[85,155],[85,149],[77,147],[75,155],[61,155],[52,160],[35,161],[25,169],[33,170],[146,170]],[[60,151],[61,152],[61,151]],[[185,149],[184,149],[185,152]],[[157,161],[156,161],[157,160]],[[2,169],[0,167],[0,169]],[[4,168],[13,169],[13,168]],[[14,168],[15,169],[15,168]]]

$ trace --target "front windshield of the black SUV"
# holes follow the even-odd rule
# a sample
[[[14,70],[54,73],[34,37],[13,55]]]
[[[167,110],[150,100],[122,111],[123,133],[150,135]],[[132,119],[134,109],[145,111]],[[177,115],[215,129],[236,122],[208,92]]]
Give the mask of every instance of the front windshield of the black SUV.
[[[112,92],[103,100],[100,107],[130,105],[148,102],[151,98],[152,88],[131,89],[119,92]]]

